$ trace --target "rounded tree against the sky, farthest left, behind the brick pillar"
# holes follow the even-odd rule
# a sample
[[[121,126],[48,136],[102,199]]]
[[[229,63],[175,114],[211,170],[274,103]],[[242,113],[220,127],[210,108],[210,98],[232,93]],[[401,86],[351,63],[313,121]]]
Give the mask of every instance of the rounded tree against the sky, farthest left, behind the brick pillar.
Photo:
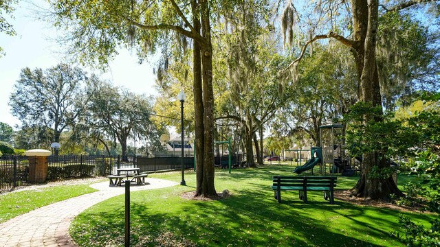
[[[67,64],[46,70],[22,69],[10,95],[12,115],[20,119],[22,128],[52,130],[52,141],[59,142],[61,132],[72,126],[81,112],[80,89],[86,79],[85,71]]]

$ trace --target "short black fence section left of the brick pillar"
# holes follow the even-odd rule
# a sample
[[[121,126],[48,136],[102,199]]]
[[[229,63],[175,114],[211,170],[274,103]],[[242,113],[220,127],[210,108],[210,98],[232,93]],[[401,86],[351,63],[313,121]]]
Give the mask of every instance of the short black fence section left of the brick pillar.
[[[0,193],[28,184],[29,163],[35,157],[0,156]]]

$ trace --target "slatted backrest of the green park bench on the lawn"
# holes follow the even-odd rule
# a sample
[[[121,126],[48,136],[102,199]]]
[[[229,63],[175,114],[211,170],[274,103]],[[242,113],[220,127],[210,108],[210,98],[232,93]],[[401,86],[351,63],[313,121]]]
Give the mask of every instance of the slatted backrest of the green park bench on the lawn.
[[[335,176],[273,176],[274,186],[336,187]]]

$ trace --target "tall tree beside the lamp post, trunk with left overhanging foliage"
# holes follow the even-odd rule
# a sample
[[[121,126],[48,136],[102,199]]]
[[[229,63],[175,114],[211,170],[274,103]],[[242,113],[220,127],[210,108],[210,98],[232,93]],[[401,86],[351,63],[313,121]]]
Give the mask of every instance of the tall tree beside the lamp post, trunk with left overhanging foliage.
[[[106,63],[121,44],[140,58],[166,45],[170,33],[190,38],[197,150],[196,196],[217,196],[214,188],[211,5],[191,1],[51,1],[56,25],[67,29],[65,43],[83,62]]]

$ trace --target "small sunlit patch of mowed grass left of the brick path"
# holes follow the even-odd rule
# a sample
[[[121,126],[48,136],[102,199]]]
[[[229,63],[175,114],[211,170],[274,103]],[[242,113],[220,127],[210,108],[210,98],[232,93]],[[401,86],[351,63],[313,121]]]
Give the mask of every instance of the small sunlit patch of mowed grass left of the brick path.
[[[0,194],[0,223],[39,207],[96,191],[83,185],[59,185]]]

